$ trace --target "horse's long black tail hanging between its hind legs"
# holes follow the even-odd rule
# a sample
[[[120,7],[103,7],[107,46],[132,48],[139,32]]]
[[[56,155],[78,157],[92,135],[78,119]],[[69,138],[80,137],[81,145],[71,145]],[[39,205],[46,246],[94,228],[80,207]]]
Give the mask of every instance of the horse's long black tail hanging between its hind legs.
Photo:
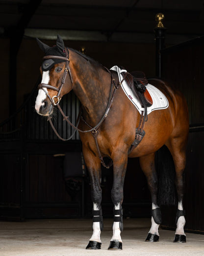
[[[155,168],[158,177],[158,205],[175,205],[177,203],[176,171],[172,155],[166,146],[156,152]]]

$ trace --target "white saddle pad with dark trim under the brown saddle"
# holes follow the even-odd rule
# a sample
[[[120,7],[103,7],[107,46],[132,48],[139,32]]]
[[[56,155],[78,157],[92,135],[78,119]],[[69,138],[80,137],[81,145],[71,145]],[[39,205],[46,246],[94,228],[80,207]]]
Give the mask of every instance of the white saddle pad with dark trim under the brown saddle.
[[[114,70],[118,73],[119,81],[121,82],[123,80],[122,72],[127,72],[125,69],[121,69],[118,66],[113,66],[110,68],[111,70]],[[124,80],[122,83],[122,88],[125,94],[127,95],[128,99],[132,102],[132,104],[137,108],[139,113],[141,114],[142,111],[144,111],[144,108],[142,107],[141,103],[139,100],[134,96],[132,90]],[[153,99],[153,105],[151,107],[147,108],[147,114],[150,114],[152,111],[157,110],[157,109],[165,109],[168,108],[169,106],[169,101],[166,98],[166,96],[159,91],[156,87],[154,87],[151,84],[146,85],[146,88],[150,94],[150,96]]]

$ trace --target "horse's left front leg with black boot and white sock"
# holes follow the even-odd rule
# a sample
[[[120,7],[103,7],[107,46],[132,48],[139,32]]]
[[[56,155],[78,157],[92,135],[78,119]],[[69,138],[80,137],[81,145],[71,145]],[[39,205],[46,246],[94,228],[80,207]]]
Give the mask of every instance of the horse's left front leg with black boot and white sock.
[[[84,154],[87,169],[89,171],[91,181],[91,197],[93,202],[93,234],[89,240],[86,249],[101,249],[101,231],[102,223],[102,189],[101,189],[101,162],[95,156]]]

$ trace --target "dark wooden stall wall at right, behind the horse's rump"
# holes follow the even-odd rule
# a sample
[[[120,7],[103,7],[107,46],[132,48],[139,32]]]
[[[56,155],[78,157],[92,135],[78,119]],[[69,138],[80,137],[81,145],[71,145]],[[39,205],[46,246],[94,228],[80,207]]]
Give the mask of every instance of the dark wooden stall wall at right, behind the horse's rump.
[[[204,232],[204,37],[161,51],[162,77],[185,96],[189,139],[185,168],[186,231]],[[171,212],[171,214],[169,214]],[[175,227],[176,207],[163,207],[163,224]]]

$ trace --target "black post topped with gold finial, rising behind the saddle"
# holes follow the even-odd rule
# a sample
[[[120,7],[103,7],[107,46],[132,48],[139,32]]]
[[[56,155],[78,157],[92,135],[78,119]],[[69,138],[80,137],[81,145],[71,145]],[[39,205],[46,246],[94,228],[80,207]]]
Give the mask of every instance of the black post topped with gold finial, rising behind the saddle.
[[[161,54],[160,50],[165,48],[165,32],[166,28],[162,24],[164,19],[164,14],[157,13],[155,20],[157,22],[156,27],[154,28],[155,32],[155,42],[156,42],[156,76],[161,77]]]

